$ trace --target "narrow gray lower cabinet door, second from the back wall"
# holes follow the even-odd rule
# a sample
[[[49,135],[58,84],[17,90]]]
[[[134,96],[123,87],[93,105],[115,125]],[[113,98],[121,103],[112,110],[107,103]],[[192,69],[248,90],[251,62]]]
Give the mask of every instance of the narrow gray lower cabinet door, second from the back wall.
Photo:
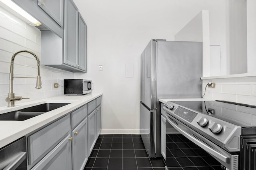
[[[88,117],[88,155],[90,156],[94,144],[96,143],[96,110],[94,110]]]

